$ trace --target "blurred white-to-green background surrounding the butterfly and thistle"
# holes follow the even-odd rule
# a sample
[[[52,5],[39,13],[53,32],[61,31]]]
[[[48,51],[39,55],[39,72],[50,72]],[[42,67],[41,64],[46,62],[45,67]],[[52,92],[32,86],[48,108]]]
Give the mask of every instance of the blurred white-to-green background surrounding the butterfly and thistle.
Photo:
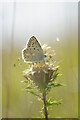
[[[66,84],[49,93],[56,100],[63,99],[61,105],[48,111],[49,117],[78,117],[77,3],[9,2],[2,5],[2,116],[41,117],[42,103],[26,93],[21,83],[27,64],[22,59],[18,61],[27,40],[34,35],[42,45],[48,44],[56,51],[55,59],[63,74],[57,81]]]

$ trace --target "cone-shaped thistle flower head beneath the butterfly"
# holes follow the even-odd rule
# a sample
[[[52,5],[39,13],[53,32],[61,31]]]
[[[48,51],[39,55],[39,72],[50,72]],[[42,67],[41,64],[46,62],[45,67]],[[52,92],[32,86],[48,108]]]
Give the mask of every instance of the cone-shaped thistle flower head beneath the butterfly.
[[[42,66],[34,65],[29,71],[25,71],[24,77],[35,83],[35,85],[43,91],[47,88],[48,83],[53,79],[55,72],[54,67],[50,67],[47,64]]]

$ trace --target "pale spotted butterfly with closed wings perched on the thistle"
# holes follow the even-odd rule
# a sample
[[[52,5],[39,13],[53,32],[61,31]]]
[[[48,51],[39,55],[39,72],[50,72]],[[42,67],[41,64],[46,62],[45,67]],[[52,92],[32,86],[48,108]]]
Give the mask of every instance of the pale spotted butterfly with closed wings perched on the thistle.
[[[29,39],[26,48],[22,50],[22,58],[25,62],[44,61],[45,55],[43,53],[43,49],[39,41],[34,36]]]

